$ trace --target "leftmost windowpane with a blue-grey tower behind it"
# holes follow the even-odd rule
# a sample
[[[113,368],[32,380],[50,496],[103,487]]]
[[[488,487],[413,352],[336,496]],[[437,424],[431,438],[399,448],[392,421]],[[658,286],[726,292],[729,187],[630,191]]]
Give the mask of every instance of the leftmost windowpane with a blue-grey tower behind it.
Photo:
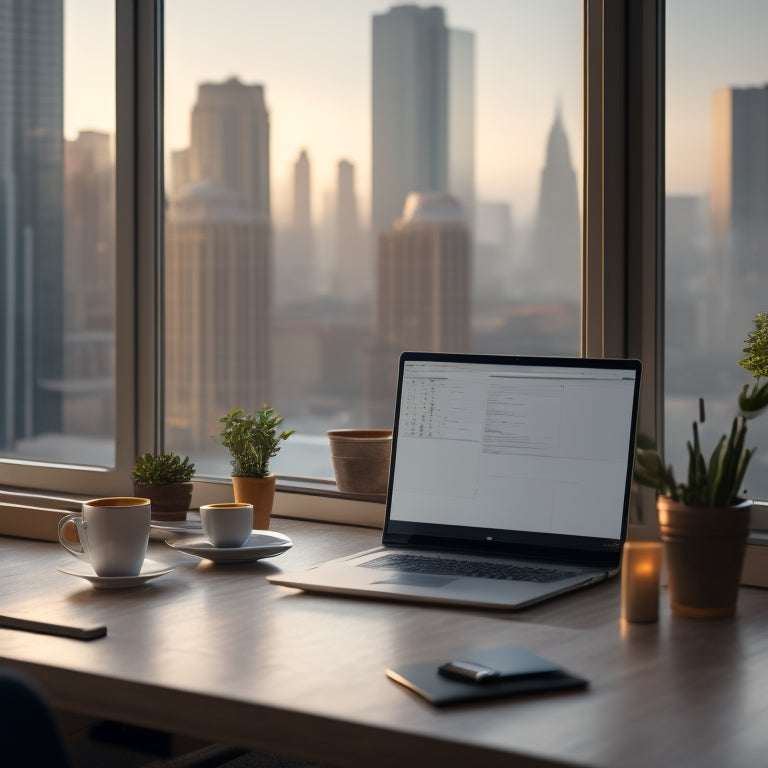
[[[115,19],[0,3],[0,456],[114,464]]]

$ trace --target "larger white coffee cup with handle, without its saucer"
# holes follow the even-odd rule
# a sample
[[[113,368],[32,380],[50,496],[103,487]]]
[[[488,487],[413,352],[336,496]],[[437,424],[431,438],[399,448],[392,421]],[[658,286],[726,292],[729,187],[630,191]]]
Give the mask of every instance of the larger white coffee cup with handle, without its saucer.
[[[71,554],[87,560],[97,576],[136,576],[149,541],[149,499],[113,496],[83,504],[82,515],[59,521],[59,541]],[[78,544],[67,534],[77,530]]]

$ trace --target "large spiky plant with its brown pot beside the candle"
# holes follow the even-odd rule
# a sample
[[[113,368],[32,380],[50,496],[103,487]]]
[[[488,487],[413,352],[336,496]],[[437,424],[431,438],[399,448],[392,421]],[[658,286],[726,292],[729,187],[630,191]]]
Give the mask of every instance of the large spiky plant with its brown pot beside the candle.
[[[742,482],[755,448],[746,447],[747,420],[768,405],[768,314],[755,319],[739,364],[757,382],[738,398],[739,415],[706,460],[699,438],[705,421],[704,400],[693,422],[688,446],[688,475],[678,482],[656,446],[638,437],[635,480],[654,488],[661,539],[667,561],[672,613],[693,618],[731,616],[736,610],[752,502],[743,498]]]

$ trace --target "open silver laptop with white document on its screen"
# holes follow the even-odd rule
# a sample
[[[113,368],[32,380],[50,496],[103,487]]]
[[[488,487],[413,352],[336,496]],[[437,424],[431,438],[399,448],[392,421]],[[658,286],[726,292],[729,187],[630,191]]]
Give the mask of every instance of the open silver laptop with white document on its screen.
[[[519,609],[615,575],[637,360],[405,352],[380,547],[273,584]]]

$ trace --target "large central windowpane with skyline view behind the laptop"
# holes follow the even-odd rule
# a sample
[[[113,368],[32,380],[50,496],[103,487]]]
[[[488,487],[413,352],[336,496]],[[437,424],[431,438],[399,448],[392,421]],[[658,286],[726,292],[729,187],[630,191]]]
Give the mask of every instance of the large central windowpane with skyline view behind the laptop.
[[[166,448],[391,426],[403,349],[578,354],[581,4],[168,0]]]

